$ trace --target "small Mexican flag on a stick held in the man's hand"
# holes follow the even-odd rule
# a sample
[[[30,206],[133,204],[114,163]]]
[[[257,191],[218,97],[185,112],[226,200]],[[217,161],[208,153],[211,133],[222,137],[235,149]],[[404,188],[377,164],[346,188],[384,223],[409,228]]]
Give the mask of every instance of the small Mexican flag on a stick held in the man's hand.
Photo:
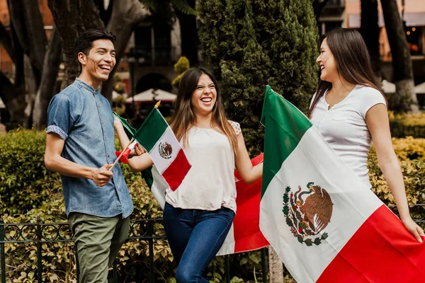
[[[126,132],[129,131],[127,127],[125,129]],[[152,109],[132,138],[146,149],[157,172],[162,175],[171,190],[177,190],[191,169],[191,164],[171,127],[157,108]]]

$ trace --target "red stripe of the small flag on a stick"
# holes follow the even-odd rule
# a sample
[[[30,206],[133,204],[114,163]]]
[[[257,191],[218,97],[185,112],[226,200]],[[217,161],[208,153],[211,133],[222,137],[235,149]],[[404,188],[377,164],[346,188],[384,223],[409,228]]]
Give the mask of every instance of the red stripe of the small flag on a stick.
[[[166,183],[169,184],[173,192],[177,190],[181,182],[183,182],[183,179],[186,177],[188,171],[191,170],[191,167],[183,149],[180,149],[174,161],[171,162],[162,173],[162,177],[166,180]]]

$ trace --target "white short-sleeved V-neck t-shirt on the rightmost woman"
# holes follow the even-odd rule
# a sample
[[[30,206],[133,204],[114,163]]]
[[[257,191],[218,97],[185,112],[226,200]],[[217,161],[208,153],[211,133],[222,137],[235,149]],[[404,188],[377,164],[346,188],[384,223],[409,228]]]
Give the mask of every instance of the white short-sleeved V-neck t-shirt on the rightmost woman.
[[[312,124],[348,168],[371,187],[368,153],[372,137],[365,117],[373,105],[387,105],[384,96],[375,88],[357,85],[344,100],[336,103],[330,110],[325,96],[326,93],[319,99],[312,112]]]

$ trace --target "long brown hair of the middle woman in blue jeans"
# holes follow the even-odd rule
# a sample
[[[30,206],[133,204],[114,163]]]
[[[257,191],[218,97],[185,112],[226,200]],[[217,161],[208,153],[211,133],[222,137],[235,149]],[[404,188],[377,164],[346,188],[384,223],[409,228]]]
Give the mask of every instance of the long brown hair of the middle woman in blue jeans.
[[[232,125],[230,125],[227,120],[225,108],[217,86],[217,80],[210,71],[203,67],[188,69],[183,74],[179,84],[179,91],[177,92],[174,114],[170,120],[170,127],[176,135],[177,140],[181,141],[183,139],[183,147],[186,146],[188,144],[188,130],[194,125],[196,119],[191,105],[191,97],[196,86],[198,86],[198,80],[202,74],[206,74],[210,77],[217,91],[215,105],[212,108],[211,127],[217,128],[225,134],[227,139],[229,139],[230,146],[232,146],[236,154],[237,137]]]

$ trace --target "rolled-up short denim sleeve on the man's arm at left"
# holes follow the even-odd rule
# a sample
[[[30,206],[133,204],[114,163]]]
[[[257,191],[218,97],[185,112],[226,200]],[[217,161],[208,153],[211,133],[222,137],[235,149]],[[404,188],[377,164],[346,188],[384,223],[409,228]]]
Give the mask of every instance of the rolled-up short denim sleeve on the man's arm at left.
[[[47,134],[53,132],[66,140],[72,121],[71,114],[69,98],[63,93],[54,96],[47,109]]]

